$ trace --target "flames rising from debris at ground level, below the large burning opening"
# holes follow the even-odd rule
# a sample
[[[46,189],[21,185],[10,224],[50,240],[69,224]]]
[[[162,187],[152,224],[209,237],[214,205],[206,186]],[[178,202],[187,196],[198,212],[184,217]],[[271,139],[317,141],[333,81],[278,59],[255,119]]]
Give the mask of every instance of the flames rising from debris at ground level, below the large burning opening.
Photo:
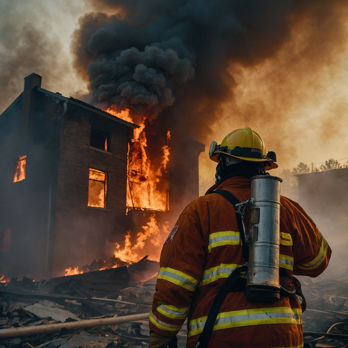
[[[168,235],[168,223],[160,226],[152,214],[149,221],[142,227],[142,231],[137,234],[137,241],[132,246],[131,233],[128,231],[125,236],[125,247],[121,249],[120,244],[115,243],[116,251],[114,256],[128,263],[140,261],[145,255],[149,254],[149,260],[159,261],[161,252],[160,246]],[[145,245],[145,242],[146,243]]]

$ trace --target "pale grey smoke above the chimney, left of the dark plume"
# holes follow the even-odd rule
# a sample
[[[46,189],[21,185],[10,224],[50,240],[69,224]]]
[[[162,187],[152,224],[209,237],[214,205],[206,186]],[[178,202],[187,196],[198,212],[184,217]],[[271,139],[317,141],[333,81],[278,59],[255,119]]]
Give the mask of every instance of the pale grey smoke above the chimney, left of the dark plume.
[[[64,42],[81,9],[82,0],[73,5],[67,0],[0,3],[0,113],[23,91],[23,78],[31,73],[41,75],[47,89],[68,95],[86,90],[74,75]]]

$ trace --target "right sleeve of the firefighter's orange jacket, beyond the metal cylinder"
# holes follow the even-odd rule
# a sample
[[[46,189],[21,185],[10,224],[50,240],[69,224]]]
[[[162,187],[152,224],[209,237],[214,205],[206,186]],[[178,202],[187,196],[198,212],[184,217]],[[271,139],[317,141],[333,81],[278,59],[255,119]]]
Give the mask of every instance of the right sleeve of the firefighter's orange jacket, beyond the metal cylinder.
[[[317,277],[327,267],[331,249],[316,224],[305,210],[295,202],[294,223],[294,274]]]

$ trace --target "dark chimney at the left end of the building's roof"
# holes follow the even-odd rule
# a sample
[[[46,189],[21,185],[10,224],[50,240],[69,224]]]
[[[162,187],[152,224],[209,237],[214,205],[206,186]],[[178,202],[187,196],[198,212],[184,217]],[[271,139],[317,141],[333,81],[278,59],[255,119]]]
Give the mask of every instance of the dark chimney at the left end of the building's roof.
[[[37,86],[41,87],[42,77],[37,74],[30,74],[24,78],[24,91],[22,103],[22,121],[21,121],[21,146],[19,148],[19,156],[25,155],[28,138],[28,122],[29,115],[33,108],[34,100],[32,98],[32,90]]]

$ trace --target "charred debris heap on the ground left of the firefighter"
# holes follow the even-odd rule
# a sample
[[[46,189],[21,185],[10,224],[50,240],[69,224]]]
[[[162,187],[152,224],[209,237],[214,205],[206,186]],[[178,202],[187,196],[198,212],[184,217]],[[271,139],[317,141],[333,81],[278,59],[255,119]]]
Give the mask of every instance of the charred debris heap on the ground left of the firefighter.
[[[157,262],[144,258],[129,267],[91,271],[48,281],[23,277],[21,281],[12,278],[8,283],[1,283],[0,348],[148,347],[147,318],[158,269]],[[139,314],[141,319],[134,319],[139,318]],[[122,321],[122,317],[126,322],[103,325],[107,321]],[[86,327],[84,323],[94,323],[91,320],[99,324]],[[55,332],[19,334],[22,328],[27,332],[32,328],[51,329],[54,325],[63,327]],[[77,325],[85,327],[67,328]],[[12,332],[15,328],[18,332],[12,337],[5,337],[7,329]],[[185,347],[185,329],[178,338],[179,347]]]

